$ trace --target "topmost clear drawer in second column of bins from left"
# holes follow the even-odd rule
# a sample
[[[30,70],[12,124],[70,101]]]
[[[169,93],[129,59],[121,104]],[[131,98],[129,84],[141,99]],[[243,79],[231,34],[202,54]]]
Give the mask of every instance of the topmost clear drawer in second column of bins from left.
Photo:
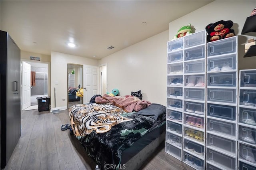
[[[206,32],[200,31],[184,37],[184,48],[193,47],[206,43]]]

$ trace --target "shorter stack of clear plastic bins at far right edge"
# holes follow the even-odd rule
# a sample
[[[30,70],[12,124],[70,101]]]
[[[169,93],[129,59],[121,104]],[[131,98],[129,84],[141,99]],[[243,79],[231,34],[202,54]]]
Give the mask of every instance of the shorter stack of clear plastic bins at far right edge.
[[[256,69],[239,75],[238,169],[256,170]]]

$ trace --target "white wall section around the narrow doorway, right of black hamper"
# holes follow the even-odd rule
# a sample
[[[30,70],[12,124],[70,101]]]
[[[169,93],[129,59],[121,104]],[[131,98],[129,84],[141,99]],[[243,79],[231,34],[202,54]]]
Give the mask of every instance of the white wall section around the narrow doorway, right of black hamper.
[[[98,61],[68,55],[52,51],[51,53],[51,106],[54,108],[54,87],[56,87],[56,105],[60,110],[67,109],[68,106],[68,63],[86,64],[98,66]]]

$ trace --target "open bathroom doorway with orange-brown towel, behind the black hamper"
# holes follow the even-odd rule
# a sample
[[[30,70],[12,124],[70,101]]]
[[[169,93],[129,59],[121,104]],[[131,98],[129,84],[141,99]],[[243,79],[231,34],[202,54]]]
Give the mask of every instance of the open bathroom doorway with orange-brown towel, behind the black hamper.
[[[29,66],[29,74],[27,77],[30,79],[30,84],[28,84],[30,88],[30,96],[29,99],[28,97],[24,96],[27,95],[26,93],[21,94],[21,99],[22,99],[22,106],[26,101],[29,101],[29,103],[26,105],[26,107],[22,107],[22,110],[33,110],[33,109],[38,109],[38,101],[37,97],[43,97],[43,96],[48,96],[48,89],[50,83],[48,82],[48,63],[38,63],[38,62],[33,62],[33,61],[22,61],[27,63],[27,67]],[[22,65],[22,69],[24,67],[24,64]],[[21,71],[21,74],[23,72]],[[22,92],[23,88],[25,88],[25,81],[24,76],[22,75]]]

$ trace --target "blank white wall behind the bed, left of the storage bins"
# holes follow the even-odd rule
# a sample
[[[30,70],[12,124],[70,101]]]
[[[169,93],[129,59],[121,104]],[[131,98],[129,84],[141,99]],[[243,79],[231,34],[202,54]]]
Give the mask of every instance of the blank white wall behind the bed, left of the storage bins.
[[[168,30],[101,59],[99,65],[108,65],[108,92],[141,90],[143,99],[166,106],[167,42]]]

